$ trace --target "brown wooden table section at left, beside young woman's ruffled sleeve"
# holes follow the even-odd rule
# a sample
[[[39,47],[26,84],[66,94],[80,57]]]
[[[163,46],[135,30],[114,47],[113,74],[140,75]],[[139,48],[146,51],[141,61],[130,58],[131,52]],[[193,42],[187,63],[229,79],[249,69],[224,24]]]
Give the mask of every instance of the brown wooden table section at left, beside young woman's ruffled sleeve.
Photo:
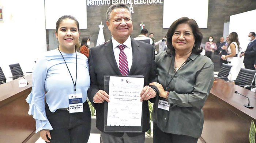
[[[26,98],[32,89],[32,74],[25,76],[30,82],[19,88],[18,80],[0,85],[0,143],[35,143],[35,119],[28,114]]]

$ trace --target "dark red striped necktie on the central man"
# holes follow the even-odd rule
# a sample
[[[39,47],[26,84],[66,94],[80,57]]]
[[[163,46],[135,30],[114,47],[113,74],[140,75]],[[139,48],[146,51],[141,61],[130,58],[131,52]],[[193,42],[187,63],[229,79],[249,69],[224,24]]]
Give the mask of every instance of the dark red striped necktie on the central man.
[[[124,44],[120,44],[117,46],[120,49],[119,54],[119,71],[122,75],[128,75],[129,69],[128,69],[128,61],[127,57],[124,53],[124,48],[126,47]]]

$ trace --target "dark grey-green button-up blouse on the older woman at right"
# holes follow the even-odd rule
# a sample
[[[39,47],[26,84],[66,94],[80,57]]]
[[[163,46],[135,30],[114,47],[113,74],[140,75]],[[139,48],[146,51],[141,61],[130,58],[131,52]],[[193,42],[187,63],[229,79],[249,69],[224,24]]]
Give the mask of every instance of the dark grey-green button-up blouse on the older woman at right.
[[[162,52],[155,58],[158,83],[162,84],[165,91],[170,91],[170,109],[167,111],[158,108],[158,100],[165,99],[157,96],[153,122],[163,132],[199,138],[204,123],[202,108],[214,80],[214,64],[208,57],[192,53],[174,75],[174,60],[174,52],[171,55]]]

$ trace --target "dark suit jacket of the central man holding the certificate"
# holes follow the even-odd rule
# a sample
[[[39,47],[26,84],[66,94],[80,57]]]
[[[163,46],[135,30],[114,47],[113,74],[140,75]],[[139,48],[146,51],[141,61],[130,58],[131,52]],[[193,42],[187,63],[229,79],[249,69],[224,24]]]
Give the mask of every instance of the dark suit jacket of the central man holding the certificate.
[[[156,81],[157,70],[155,67],[155,51],[151,44],[137,41],[131,38],[132,45],[132,66],[128,75],[143,75],[144,86]],[[90,48],[89,51],[89,72],[91,85],[88,90],[88,98],[96,109],[97,122],[96,127],[104,130],[104,104],[93,103],[93,97],[98,90],[104,90],[105,75],[121,75],[117,66],[112,40]],[[156,87],[155,87],[156,88]],[[142,130],[146,132],[149,129],[149,110],[148,101],[143,101],[143,125]],[[115,136],[122,136],[123,133],[112,133]],[[136,136],[136,133],[128,133],[128,136]]]

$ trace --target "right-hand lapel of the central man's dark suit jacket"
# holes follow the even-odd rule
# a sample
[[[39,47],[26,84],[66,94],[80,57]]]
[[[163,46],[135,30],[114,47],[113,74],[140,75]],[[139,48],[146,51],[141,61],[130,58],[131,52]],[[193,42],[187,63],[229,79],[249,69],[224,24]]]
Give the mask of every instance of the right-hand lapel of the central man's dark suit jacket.
[[[138,66],[138,62],[140,61],[140,53],[141,53],[140,44],[136,40],[132,39],[132,37],[131,37],[131,44],[132,44],[132,66],[128,75],[133,75],[133,73],[135,72]]]

